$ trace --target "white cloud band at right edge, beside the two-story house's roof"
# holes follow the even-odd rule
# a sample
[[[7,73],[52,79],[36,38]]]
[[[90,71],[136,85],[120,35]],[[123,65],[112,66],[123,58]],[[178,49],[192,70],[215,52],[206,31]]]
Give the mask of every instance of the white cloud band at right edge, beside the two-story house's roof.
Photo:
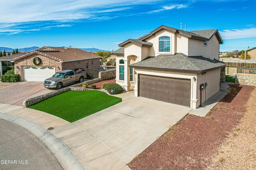
[[[232,29],[219,31],[222,39],[237,39],[237,38],[250,38],[256,37],[256,27],[245,29]]]

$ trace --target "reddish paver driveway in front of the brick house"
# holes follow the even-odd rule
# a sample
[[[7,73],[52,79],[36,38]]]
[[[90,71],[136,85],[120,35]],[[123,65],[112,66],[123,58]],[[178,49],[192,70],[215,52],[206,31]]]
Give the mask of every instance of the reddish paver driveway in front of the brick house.
[[[0,103],[23,106],[24,100],[34,98],[54,90],[44,88],[43,82],[0,83]]]

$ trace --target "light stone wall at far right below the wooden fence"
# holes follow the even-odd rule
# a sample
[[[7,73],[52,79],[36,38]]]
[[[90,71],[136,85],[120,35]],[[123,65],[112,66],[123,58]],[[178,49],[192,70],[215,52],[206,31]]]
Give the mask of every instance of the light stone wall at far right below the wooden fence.
[[[236,73],[236,84],[256,86],[256,74]]]

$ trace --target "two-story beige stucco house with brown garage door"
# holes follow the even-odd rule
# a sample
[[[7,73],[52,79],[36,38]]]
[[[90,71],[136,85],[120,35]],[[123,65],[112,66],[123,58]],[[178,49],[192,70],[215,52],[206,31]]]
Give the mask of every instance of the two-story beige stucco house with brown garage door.
[[[116,82],[135,96],[197,108],[220,89],[217,29],[183,31],[162,25],[119,44]],[[200,90],[200,84],[207,85]],[[202,94],[201,94],[202,92]]]

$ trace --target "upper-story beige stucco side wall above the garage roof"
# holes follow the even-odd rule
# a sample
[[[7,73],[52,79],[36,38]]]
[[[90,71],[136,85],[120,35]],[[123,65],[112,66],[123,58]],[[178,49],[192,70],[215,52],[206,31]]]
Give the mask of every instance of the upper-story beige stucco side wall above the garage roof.
[[[219,41],[214,35],[207,42],[207,47],[204,47],[204,41],[198,39],[188,39],[188,56],[200,56],[210,59],[219,59]]]

